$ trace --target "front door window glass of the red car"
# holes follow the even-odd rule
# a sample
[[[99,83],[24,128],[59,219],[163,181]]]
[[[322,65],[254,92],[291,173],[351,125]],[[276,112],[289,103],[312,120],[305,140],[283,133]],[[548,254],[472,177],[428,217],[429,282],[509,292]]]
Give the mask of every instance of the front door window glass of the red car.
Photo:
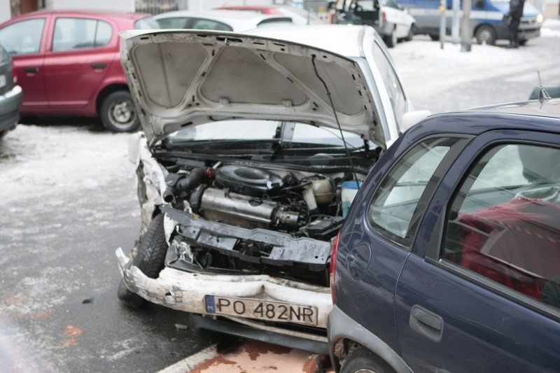
[[[0,43],[10,55],[38,53],[44,26],[44,18],[8,24],[0,30]]]

